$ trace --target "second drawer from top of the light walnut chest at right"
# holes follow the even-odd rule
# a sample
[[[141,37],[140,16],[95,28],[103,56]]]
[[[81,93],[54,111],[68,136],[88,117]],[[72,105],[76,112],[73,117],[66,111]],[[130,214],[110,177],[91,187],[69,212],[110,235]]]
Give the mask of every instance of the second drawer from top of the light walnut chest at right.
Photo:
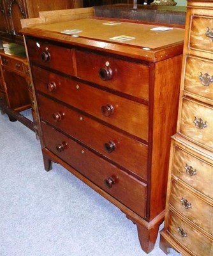
[[[213,104],[213,61],[186,57],[184,91]]]

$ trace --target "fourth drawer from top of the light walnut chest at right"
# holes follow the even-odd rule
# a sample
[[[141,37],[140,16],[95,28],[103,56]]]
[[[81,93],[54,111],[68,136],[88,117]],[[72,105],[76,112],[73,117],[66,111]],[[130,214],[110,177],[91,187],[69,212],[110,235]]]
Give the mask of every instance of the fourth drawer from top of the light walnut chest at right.
[[[213,165],[175,145],[172,174],[213,199]]]

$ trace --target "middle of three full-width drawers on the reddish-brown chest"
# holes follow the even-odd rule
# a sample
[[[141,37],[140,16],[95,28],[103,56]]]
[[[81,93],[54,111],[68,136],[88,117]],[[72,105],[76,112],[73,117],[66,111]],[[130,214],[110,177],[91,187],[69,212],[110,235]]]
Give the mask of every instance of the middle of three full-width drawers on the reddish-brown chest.
[[[147,179],[146,145],[42,95],[38,95],[38,105],[41,119]],[[95,138],[92,134],[95,134]]]

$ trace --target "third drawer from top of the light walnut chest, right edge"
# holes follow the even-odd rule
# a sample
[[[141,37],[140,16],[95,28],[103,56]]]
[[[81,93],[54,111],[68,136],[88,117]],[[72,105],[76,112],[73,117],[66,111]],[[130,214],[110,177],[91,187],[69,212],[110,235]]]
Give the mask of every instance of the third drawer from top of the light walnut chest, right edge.
[[[180,133],[209,150],[213,149],[213,108],[182,99]]]

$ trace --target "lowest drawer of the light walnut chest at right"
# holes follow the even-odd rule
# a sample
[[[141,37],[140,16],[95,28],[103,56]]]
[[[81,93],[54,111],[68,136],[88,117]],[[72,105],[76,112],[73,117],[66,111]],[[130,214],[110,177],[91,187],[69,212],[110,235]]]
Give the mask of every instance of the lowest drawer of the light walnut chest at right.
[[[209,220],[206,220],[209,221]],[[168,214],[168,232],[193,255],[212,255],[212,240],[198,232],[195,228],[182,220],[174,212]]]

